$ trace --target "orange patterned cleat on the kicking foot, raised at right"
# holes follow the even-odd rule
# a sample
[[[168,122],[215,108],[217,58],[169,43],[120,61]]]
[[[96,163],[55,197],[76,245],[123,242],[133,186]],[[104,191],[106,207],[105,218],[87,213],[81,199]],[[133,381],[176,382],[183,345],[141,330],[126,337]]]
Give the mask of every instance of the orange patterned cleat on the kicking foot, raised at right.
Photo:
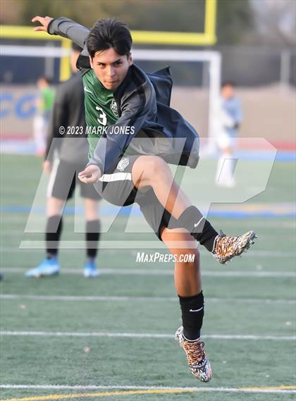
[[[242,252],[246,252],[249,247],[254,244],[254,239],[257,235],[254,231],[248,231],[247,233],[240,235],[240,237],[226,237],[226,235],[220,231],[220,234],[216,236],[213,256],[221,264],[230,261],[233,257],[237,257]]]

